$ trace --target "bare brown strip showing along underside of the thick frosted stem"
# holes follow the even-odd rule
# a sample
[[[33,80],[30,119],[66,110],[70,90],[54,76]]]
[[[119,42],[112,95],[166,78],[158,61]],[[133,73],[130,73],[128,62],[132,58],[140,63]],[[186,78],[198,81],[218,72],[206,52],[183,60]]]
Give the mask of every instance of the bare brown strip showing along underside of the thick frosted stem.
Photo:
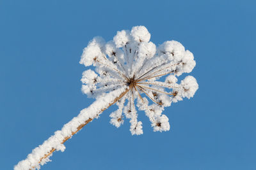
[[[102,108],[100,110],[100,112],[103,112],[104,110],[106,110],[107,108],[109,108],[111,105],[115,104],[119,99],[121,99],[125,94],[127,94],[127,92],[129,91],[129,89],[126,89],[124,92],[122,92],[122,94],[120,94],[120,96],[116,97],[114,99],[114,101],[112,103],[109,103],[109,105],[106,107],[106,108]],[[97,115],[98,116],[98,115]],[[96,116],[96,117],[97,117]],[[95,117],[93,117],[95,118]],[[88,120],[86,120],[83,124],[79,125],[77,127],[77,130],[72,132],[72,135],[71,136],[67,136],[63,139],[63,141],[61,142],[61,144],[65,143],[68,139],[70,139],[72,136],[74,136],[74,134],[76,134],[78,131],[80,131],[84,125],[87,125],[89,122],[92,122],[93,118],[89,118]],[[45,154],[44,157],[40,158],[40,160],[38,161],[38,164],[40,164],[42,162],[43,159],[49,157],[49,155],[51,155],[54,151],[56,150],[56,148],[52,148],[49,153]],[[35,168],[35,167],[32,167],[32,168]],[[31,170],[31,169],[29,169]]]

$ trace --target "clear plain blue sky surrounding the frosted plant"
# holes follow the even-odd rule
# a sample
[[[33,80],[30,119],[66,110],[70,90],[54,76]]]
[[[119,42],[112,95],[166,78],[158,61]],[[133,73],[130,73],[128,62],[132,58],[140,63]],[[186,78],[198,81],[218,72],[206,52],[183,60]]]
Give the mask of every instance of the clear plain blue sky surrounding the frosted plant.
[[[88,124],[42,169],[256,169],[254,1],[0,1],[0,163],[12,169],[93,102],[79,64],[93,36],[145,25],[194,53],[199,90],[166,108],[171,131]]]

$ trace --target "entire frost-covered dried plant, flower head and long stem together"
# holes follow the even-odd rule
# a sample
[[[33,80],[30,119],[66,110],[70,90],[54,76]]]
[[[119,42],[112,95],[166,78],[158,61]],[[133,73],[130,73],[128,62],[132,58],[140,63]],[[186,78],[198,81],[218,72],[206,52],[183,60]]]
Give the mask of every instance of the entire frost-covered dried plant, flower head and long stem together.
[[[154,131],[168,131],[170,124],[162,114],[164,107],[193,97],[198,89],[193,76],[177,83],[177,76],[190,73],[195,67],[193,53],[177,41],[165,41],[157,47],[144,26],[118,31],[113,41],[93,38],[84,48],[80,63],[95,66],[95,71],[84,71],[81,79],[82,92],[95,98],[95,102],[35,148],[15,170],[39,169],[49,161],[52,152],[63,152],[65,141],[115,103],[118,110],[111,113],[110,123],[116,127],[124,123],[124,113],[130,119],[131,134],[143,134],[137,107],[145,111]]]

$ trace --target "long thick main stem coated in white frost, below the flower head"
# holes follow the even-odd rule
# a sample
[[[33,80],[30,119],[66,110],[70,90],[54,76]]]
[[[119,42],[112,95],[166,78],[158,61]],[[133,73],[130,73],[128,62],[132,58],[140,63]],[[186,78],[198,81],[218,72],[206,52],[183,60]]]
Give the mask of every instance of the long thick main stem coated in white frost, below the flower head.
[[[61,131],[56,131],[53,136],[47,139],[42,145],[35,148],[32,153],[29,153],[27,159],[21,160],[15,167],[15,170],[28,170],[28,169],[40,169],[40,165],[44,165],[46,162],[51,161],[51,157],[54,151],[65,150],[65,143],[68,139],[72,138],[74,134],[80,131],[84,125],[92,122],[94,118],[99,117],[99,115],[121,99],[127,92],[129,88],[120,88],[109,92],[105,96],[99,97],[94,103],[92,103],[88,108],[81,110],[79,115],[67,124],[63,126]],[[79,122],[82,122],[78,124]],[[75,127],[74,127],[75,126]]]

